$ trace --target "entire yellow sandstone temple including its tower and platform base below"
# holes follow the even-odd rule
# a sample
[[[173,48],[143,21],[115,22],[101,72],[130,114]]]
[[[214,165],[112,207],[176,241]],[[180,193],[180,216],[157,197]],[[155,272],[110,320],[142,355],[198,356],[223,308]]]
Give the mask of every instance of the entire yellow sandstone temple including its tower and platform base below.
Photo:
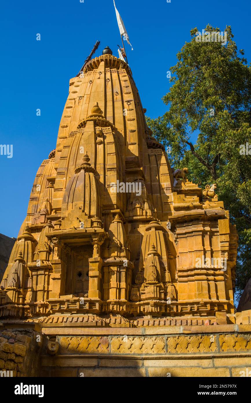
[[[234,312],[235,226],[214,189],[174,172],[145,113],[109,48],[70,79],[0,285],[0,368],[15,376],[251,365],[251,325]]]

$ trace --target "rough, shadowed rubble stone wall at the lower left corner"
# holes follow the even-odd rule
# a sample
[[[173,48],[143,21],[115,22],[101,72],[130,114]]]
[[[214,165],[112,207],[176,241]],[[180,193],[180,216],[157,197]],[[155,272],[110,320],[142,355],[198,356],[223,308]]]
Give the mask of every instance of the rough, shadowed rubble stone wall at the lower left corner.
[[[1,376],[38,376],[41,343],[37,334],[30,329],[9,329],[8,324],[0,326]]]

